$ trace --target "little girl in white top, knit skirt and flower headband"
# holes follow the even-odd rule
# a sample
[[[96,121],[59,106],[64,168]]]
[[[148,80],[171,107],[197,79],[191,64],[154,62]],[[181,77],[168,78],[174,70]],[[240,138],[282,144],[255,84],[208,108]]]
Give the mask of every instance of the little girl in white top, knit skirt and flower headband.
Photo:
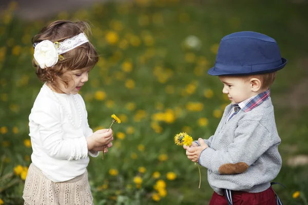
[[[45,82],[29,116],[33,153],[25,182],[25,204],[93,204],[88,154],[108,152],[112,130],[95,133],[78,91],[98,55],[85,22],[55,21],[32,39],[33,65]]]

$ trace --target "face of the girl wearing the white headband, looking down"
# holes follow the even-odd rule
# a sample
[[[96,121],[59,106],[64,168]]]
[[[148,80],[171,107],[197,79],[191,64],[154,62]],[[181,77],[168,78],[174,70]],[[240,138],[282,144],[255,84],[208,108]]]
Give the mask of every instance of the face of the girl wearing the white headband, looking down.
[[[88,71],[73,70],[68,71],[68,74],[72,77],[68,85],[66,86],[62,81],[56,79],[57,89],[55,91],[72,95],[78,94],[81,87],[88,81]]]

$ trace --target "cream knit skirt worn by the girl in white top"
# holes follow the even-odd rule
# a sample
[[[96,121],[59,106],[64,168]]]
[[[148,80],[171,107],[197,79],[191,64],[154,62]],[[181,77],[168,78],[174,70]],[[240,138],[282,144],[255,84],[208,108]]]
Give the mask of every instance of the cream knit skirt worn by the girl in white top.
[[[55,183],[30,164],[23,198],[25,205],[93,205],[88,172],[71,180]]]

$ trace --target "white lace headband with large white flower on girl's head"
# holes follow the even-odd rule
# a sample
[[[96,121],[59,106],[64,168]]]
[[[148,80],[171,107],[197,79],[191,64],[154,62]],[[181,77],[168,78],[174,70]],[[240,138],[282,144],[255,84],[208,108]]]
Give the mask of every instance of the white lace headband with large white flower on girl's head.
[[[63,42],[52,43],[49,40],[44,40],[39,43],[34,43],[34,60],[42,69],[54,66],[59,59],[62,59],[62,53],[72,50],[84,43],[89,42],[84,33],[66,39]]]

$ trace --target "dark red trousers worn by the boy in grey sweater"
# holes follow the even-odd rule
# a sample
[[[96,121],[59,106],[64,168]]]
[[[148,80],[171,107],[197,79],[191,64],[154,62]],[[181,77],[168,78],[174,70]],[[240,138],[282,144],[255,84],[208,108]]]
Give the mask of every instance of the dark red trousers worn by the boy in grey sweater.
[[[276,196],[272,187],[260,193],[232,191],[233,205],[275,205]],[[216,192],[212,195],[209,205],[228,205],[226,197]]]

